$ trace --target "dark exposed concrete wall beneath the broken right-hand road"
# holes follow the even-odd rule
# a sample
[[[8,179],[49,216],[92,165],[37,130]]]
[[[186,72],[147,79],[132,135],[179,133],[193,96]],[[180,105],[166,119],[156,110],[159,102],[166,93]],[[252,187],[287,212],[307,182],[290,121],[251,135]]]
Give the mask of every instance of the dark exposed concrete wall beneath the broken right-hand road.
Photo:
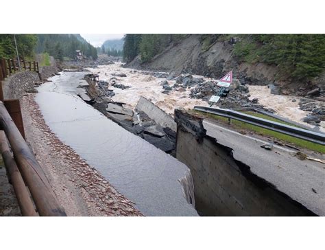
[[[272,185],[232,157],[232,149],[205,135],[202,120],[176,111],[176,158],[191,170],[195,207],[205,216],[306,216]]]

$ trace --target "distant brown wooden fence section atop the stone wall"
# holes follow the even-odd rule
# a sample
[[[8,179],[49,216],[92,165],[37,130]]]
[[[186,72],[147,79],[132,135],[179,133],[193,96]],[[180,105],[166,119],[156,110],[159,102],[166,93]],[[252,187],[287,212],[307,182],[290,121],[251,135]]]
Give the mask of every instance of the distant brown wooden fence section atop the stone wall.
[[[17,58],[0,58],[0,81],[19,71],[39,72],[38,62],[26,62],[25,59],[18,60]]]

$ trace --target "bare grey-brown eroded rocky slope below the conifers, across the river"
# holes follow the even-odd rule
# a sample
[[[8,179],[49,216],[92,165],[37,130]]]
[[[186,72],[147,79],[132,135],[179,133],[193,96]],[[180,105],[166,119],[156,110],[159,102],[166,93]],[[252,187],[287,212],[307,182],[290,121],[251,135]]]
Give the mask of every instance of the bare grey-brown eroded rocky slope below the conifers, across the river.
[[[207,39],[200,34],[186,36],[180,43],[167,47],[149,62],[141,64],[138,56],[128,67],[169,71],[175,76],[180,73],[193,73],[211,78],[221,78],[233,70],[234,77],[238,78],[241,84],[269,85],[276,94],[306,95],[307,92],[319,88],[317,95],[324,95],[325,73],[310,82],[296,82],[286,76],[280,76],[276,66],[261,62],[239,62],[233,53],[236,37],[211,37]]]

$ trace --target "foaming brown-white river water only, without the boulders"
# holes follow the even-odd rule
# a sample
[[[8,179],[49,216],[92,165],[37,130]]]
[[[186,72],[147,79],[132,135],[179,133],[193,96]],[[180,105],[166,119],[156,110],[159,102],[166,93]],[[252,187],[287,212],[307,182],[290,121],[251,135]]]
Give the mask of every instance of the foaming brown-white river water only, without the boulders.
[[[99,65],[97,68],[88,68],[92,73],[97,73],[100,80],[110,81],[110,78],[115,77],[115,74],[125,73],[126,77],[117,77],[118,83],[130,86],[128,89],[114,88],[115,96],[112,98],[115,102],[125,102],[127,106],[134,109],[139,101],[140,96],[151,100],[154,104],[163,109],[169,115],[173,115],[174,109],[193,109],[197,106],[209,106],[208,102],[203,100],[192,99],[189,97],[191,88],[185,91],[170,91],[167,95],[163,93],[163,87],[160,82],[165,78],[156,78],[154,76],[145,75],[141,71],[134,71],[134,69],[124,68],[122,64],[115,63],[112,65]],[[203,76],[195,76],[204,78],[204,80],[211,80]],[[169,80],[169,86],[176,83],[175,80]],[[250,89],[250,100],[258,98],[259,104],[262,104],[267,109],[273,109],[277,115],[285,117],[293,122],[298,122],[306,126],[311,126],[303,122],[303,118],[310,112],[302,111],[299,107],[300,98],[290,95],[273,95],[267,86],[252,86],[248,85]],[[292,102],[295,99],[296,102]],[[325,132],[325,123],[321,123],[320,130]]]

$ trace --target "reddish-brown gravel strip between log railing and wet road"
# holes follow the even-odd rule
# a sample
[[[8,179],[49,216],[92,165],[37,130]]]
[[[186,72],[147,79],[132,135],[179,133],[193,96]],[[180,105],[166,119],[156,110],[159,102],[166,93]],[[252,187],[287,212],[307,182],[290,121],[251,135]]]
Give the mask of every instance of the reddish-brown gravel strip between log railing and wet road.
[[[34,101],[21,100],[26,140],[68,216],[141,216],[131,201],[51,132]]]

